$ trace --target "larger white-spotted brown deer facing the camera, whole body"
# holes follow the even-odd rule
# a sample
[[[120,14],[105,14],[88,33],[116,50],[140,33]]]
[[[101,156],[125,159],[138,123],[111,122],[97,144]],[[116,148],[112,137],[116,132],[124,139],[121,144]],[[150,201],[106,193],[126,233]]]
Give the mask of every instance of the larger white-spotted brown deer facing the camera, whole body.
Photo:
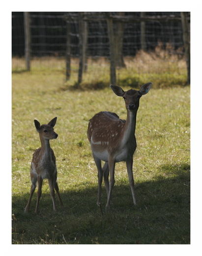
[[[101,186],[104,177],[107,191],[106,208],[110,207],[112,189],[115,184],[115,163],[126,161],[129,184],[136,205],[134,179],[133,179],[133,154],[136,150],[136,116],[140,98],[147,94],[152,83],[144,84],[140,91],[129,90],[124,92],[121,87],[111,85],[117,96],[123,97],[127,110],[127,119],[122,120],[112,112],[99,112],[90,119],[87,128],[87,137],[91,145],[92,155],[98,170],[98,200],[101,203]],[[101,166],[101,160],[105,161]],[[109,183],[110,174],[110,183]]]

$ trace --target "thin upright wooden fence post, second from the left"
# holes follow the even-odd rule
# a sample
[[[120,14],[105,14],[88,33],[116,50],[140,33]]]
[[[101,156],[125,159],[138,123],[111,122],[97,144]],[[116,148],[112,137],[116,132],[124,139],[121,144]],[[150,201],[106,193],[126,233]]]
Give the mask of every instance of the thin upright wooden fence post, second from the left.
[[[70,79],[71,75],[71,30],[70,30],[70,22],[66,21],[66,81]]]

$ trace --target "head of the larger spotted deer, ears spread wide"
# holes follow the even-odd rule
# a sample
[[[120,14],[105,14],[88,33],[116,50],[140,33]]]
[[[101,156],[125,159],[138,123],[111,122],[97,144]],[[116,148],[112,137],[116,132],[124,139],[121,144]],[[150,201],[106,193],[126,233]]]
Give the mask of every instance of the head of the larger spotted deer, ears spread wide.
[[[116,85],[111,85],[110,87],[112,88],[115,95],[123,97],[123,99],[125,100],[126,109],[132,112],[138,110],[140,98],[148,93],[151,85],[152,83],[149,82],[147,84],[144,84],[139,91],[130,89],[126,92],[124,92],[121,87]]]

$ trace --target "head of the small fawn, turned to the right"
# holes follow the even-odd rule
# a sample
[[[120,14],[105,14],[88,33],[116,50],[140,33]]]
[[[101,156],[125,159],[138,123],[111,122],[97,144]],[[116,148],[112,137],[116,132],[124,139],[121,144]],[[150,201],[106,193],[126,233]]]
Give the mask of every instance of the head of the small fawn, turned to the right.
[[[40,138],[43,137],[43,139],[57,139],[58,134],[54,131],[54,126],[56,124],[57,117],[52,119],[48,125],[40,125],[40,123],[37,120],[34,120],[34,124],[36,127],[36,130],[39,132]]]

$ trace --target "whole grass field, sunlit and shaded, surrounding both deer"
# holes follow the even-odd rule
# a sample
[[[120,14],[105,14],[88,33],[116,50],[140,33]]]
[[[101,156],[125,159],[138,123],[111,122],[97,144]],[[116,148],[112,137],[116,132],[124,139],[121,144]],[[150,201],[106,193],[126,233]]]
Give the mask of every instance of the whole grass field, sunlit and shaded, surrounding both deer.
[[[133,205],[126,166],[121,162],[115,166],[113,205],[105,212],[104,185],[102,208],[96,205],[97,170],[87,125],[102,110],[125,119],[123,99],[110,87],[67,90],[60,69],[35,67],[12,74],[13,244],[190,243],[190,87],[169,84],[161,89],[152,78],[143,83],[150,81],[153,87],[140,100],[136,126],[138,205]],[[30,162],[40,147],[33,120],[44,124],[56,116],[58,139],[51,141],[51,147],[64,206],[60,208],[56,198],[58,212],[53,212],[48,181],[44,180],[39,215],[34,214],[36,192],[30,212],[25,214]]]

